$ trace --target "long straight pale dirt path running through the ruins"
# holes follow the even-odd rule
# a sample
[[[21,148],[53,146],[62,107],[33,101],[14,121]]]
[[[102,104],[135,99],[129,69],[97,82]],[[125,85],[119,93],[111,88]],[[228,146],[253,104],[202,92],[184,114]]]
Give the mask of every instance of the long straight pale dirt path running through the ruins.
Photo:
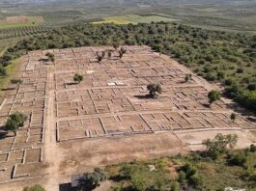
[[[54,114],[54,72],[53,67],[48,68],[47,75],[47,101],[46,101],[46,122],[44,135],[44,161],[49,165],[46,190],[59,190],[59,152],[56,143],[56,128]]]

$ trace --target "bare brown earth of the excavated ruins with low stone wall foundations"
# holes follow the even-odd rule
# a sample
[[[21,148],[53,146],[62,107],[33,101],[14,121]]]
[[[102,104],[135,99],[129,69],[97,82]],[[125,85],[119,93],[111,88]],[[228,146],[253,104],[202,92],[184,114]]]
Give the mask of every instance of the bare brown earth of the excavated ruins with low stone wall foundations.
[[[22,58],[23,84],[6,92],[0,123],[14,111],[29,120],[0,140],[1,190],[35,183],[59,190],[96,166],[201,150],[216,133],[238,134],[238,148],[255,143],[255,123],[240,114],[231,121],[230,100],[208,106],[217,86],[195,74],[185,83],[191,71],[148,46],[125,49],[122,59],[111,47],[48,50],[54,63],[42,60],[47,51]],[[97,62],[105,50],[112,57]],[[84,75],[80,84],[74,73]],[[162,95],[145,96],[149,83],[160,83]]]

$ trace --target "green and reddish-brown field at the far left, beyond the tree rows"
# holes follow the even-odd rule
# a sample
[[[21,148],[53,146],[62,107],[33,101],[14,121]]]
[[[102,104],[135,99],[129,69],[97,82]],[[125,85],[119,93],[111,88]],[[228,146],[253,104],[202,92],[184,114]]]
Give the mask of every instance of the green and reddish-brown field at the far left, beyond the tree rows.
[[[0,20],[0,29],[15,28],[15,27],[25,27],[25,26],[38,26],[43,23],[43,16],[23,16],[26,20],[22,21],[19,16],[15,16],[16,21],[6,21],[4,19]],[[20,21],[19,21],[20,19]]]

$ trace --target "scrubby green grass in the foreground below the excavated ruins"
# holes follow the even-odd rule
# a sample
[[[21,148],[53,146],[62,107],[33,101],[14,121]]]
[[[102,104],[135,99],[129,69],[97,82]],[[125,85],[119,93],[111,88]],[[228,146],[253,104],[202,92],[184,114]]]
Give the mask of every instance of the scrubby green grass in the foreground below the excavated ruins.
[[[233,151],[234,154],[239,151]],[[256,152],[248,152],[246,167],[229,165],[227,155],[218,160],[198,159],[197,154],[187,156],[164,157],[154,160],[133,161],[106,167],[109,179],[112,180],[110,190],[175,190],[181,183],[181,169],[189,163],[202,179],[203,186],[196,190],[224,190],[226,187],[255,190],[255,182],[244,178],[247,169],[255,171]],[[154,168],[156,169],[154,169]],[[179,190],[179,189],[177,189]]]

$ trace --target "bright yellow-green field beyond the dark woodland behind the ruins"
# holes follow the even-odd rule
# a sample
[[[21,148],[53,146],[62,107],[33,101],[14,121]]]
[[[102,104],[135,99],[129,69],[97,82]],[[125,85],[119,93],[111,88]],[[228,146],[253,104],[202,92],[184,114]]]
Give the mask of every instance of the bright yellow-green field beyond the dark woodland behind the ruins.
[[[115,24],[138,24],[138,23],[150,23],[150,22],[159,22],[159,21],[175,21],[176,19],[168,18],[160,15],[138,15],[138,14],[129,14],[125,16],[112,16],[105,17],[103,21],[93,22],[95,24],[101,23],[115,23]]]

